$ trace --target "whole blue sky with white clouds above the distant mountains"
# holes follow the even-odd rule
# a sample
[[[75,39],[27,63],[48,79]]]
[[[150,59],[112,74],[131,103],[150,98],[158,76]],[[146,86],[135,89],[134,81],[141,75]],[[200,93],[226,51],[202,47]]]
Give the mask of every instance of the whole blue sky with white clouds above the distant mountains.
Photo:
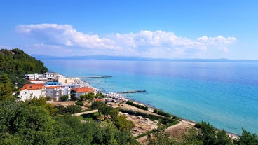
[[[0,33],[29,55],[258,60],[258,1],[0,0]]]

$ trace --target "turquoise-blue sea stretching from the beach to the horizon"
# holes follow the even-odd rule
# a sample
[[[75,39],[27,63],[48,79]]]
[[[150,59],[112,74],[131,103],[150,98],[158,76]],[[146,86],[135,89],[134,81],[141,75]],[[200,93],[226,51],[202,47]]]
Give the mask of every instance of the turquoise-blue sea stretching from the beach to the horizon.
[[[100,76],[90,85],[107,92],[147,90],[125,97],[181,118],[241,134],[258,134],[258,63],[42,60],[64,76]]]

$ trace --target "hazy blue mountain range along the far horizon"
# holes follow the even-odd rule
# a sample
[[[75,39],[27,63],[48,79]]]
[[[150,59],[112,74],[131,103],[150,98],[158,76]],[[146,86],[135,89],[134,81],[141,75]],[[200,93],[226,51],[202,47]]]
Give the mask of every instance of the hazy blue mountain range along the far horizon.
[[[39,60],[121,60],[121,61],[164,61],[164,62],[258,62],[258,60],[229,60],[219,59],[167,59],[167,58],[149,58],[134,56],[109,56],[109,55],[87,55],[87,56],[50,56],[50,55],[32,55]]]

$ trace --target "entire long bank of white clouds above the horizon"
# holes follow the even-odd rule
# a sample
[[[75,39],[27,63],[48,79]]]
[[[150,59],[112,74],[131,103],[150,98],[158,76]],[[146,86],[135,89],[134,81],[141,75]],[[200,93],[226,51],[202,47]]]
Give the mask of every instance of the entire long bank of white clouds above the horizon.
[[[224,36],[201,36],[196,40],[191,40],[186,37],[176,36],[173,32],[160,30],[110,34],[101,38],[98,35],[78,32],[72,25],[57,24],[18,25],[16,29],[17,32],[36,39],[41,45],[64,46],[64,49],[69,51],[76,49],[82,53],[84,50],[84,52],[100,55],[194,57],[207,54],[210,48],[217,48],[217,51],[222,53],[227,52],[227,46],[236,41],[235,37]]]

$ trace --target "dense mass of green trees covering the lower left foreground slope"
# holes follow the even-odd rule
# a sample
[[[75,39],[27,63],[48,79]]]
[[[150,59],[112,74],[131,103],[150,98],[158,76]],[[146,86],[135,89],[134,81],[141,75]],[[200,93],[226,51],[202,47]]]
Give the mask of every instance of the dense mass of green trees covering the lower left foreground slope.
[[[69,114],[79,106],[67,106],[72,111],[62,116],[57,111],[60,106],[51,106],[43,98],[5,100],[0,106],[0,144],[138,144],[130,132],[118,130],[113,122],[81,123]]]

